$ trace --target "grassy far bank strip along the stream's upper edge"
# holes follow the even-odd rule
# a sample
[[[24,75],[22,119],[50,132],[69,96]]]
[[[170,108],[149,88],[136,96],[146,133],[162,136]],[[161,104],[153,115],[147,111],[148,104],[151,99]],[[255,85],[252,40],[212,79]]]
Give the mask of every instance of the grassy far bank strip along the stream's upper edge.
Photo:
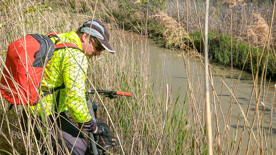
[[[170,28],[166,27],[166,25],[170,25],[174,19],[163,15],[163,18],[170,18],[170,21],[166,21],[164,23],[158,22],[158,16],[152,17],[147,22],[147,29],[143,26],[143,23],[146,21],[141,21],[134,19],[132,17],[125,17],[125,15],[121,15],[118,13],[113,13],[113,16],[120,22],[123,23],[123,28],[127,31],[139,32],[142,34],[148,34],[148,38],[160,44],[162,47],[176,49],[180,47],[189,46],[190,50],[193,52],[198,52],[200,55],[203,55],[204,52],[204,44],[202,41],[201,32],[197,29],[190,30],[189,32],[189,41],[184,36],[180,37],[178,32],[171,32],[170,35],[164,35],[166,33],[170,33],[170,31],[176,31],[174,29],[170,30]],[[157,20],[155,19],[157,18]],[[122,23],[119,23],[122,25]],[[145,32],[147,31],[147,32]],[[182,31],[186,32],[184,28]],[[164,33],[166,32],[166,33]],[[204,33],[204,32],[202,32]],[[181,41],[181,39],[182,41]],[[184,45],[180,45],[183,43]],[[264,55],[266,50],[263,50],[263,46],[257,46],[254,43],[248,44],[247,40],[243,40],[237,36],[233,36],[231,40],[231,36],[228,34],[223,34],[217,31],[210,31],[208,34],[208,43],[209,43],[209,61],[218,63],[222,66],[231,66],[231,63],[236,68],[243,68],[247,72],[252,72],[255,74],[257,69],[259,69],[258,74],[262,73],[262,68],[264,64]],[[232,47],[231,47],[232,44]],[[250,47],[250,48],[249,48]],[[231,56],[232,53],[232,56]],[[251,53],[250,55],[247,55]],[[232,62],[231,62],[232,57]],[[262,58],[262,59],[261,59]],[[260,61],[260,62],[259,62]],[[252,62],[252,66],[251,66]],[[257,68],[257,64],[259,63],[259,68]],[[268,55],[268,65],[267,65],[267,77],[276,78],[276,54],[274,50],[273,44],[269,48]],[[252,69],[251,69],[252,68]]]

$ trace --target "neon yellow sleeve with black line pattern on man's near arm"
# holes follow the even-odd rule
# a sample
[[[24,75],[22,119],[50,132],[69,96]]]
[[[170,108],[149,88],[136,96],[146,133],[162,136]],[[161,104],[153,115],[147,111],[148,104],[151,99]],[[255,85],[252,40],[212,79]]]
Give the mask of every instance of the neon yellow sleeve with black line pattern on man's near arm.
[[[84,130],[93,132],[97,125],[92,120],[86,104],[84,85],[86,71],[86,57],[83,57],[83,53],[79,50],[72,49],[63,60],[63,79],[66,90],[65,105],[77,123],[85,122]]]

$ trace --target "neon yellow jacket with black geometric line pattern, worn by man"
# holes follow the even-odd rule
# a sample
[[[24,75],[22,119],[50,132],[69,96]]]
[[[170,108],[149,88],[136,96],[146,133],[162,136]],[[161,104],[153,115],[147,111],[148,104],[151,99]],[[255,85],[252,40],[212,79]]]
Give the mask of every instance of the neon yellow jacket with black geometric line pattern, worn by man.
[[[58,36],[64,43],[74,43],[82,49],[79,36],[74,31],[61,33]],[[56,41],[57,43],[62,43],[56,37],[52,37],[51,40],[54,43]],[[55,89],[64,83],[65,88],[60,89],[58,111],[60,109],[61,112],[68,110],[77,123],[84,123],[92,120],[85,98],[87,58],[78,49],[68,49],[62,48],[54,51],[52,58],[45,67],[41,90]],[[54,93],[44,96],[37,105],[31,106],[33,112],[35,112],[37,106],[38,115],[41,115],[43,109],[47,115],[54,114],[58,91],[55,90]],[[42,91],[40,94],[42,94]]]

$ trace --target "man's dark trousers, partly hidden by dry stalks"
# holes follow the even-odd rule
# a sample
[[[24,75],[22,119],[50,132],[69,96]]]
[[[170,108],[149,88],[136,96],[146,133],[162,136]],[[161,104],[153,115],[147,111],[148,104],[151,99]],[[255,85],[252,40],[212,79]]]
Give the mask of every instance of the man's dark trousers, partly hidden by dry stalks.
[[[61,116],[59,116],[59,118],[56,120],[57,125],[54,123],[54,126],[52,127],[51,130],[49,130],[49,129],[52,126],[53,119],[49,118],[51,116],[49,116],[49,117],[47,116],[49,118],[48,122],[50,124],[50,125],[48,125],[49,127],[47,127],[48,128],[47,134],[51,134],[50,138],[52,141],[52,147],[53,147],[54,152],[56,152],[56,154],[67,154],[66,148],[64,147],[62,138],[60,136],[60,132],[61,132],[64,143],[67,146],[69,153],[72,150],[72,153],[71,153],[72,155],[88,155],[88,154],[90,155],[90,154],[92,154],[83,134],[81,134],[81,133],[79,134],[79,129],[74,127],[74,125],[72,125],[70,123],[65,112],[61,112],[60,115]],[[31,117],[33,117],[33,115],[31,115]],[[32,119],[31,124],[33,124],[33,118],[31,118],[31,119]],[[41,117],[39,119],[41,121]],[[23,123],[23,120],[24,120],[24,123]],[[23,118],[21,118],[21,124],[24,125],[24,127],[22,127],[23,130],[28,129],[28,126],[27,126],[28,117],[25,112],[23,112]],[[43,124],[41,122],[40,126],[42,127],[42,125]],[[58,129],[60,132],[58,131]],[[35,134],[37,140],[40,140],[40,142],[43,142],[40,132],[37,129],[36,125],[34,127],[34,134]],[[78,135],[79,135],[79,137],[78,137]],[[50,138],[48,138],[48,139],[50,139]],[[58,143],[56,143],[56,141]],[[73,147],[73,145],[74,145],[74,147]],[[45,148],[46,147],[43,145],[42,152]]]

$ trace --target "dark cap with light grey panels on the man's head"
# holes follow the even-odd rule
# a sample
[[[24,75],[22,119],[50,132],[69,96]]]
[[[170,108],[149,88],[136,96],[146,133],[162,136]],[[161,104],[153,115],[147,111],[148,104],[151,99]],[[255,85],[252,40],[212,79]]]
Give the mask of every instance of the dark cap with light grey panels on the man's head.
[[[104,47],[110,53],[115,53],[111,45],[109,44],[109,32],[105,25],[98,20],[93,20],[90,30],[91,20],[86,21],[82,27],[79,28],[80,32],[90,34],[91,36],[96,37],[101,43],[102,47]],[[90,33],[89,33],[90,30]]]

